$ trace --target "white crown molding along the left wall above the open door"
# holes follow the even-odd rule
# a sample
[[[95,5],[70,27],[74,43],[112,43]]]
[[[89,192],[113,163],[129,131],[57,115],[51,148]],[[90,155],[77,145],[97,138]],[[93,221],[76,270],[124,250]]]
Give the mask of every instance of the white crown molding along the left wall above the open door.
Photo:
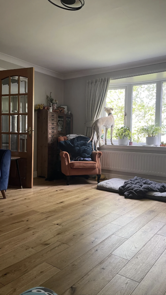
[[[34,65],[32,63],[27,63],[24,60],[12,57],[12,56],[4,54],[4,53],[0,53],[0,59],[4,60],[4,61],[7,61],[9,63],[14,63],[15,65],[19,65],[19,66],[21,66],[23,68],[31,68],[31,67],[33,67],[33,68],[35,68],[35,71],[37,71],[37,72],[40,72],[40,73],[43,73],[43,74],[46,74],[46,75],[49,75],[49,76],[53,76],[53,77],[56,77],[56,78],[59,78],[59,79],[62,79],[62,80],[64,79],[64,75],[62,75],[62,74],[59,74],[59,73],[56,73],[54,71],[39,67],[38,65]]]

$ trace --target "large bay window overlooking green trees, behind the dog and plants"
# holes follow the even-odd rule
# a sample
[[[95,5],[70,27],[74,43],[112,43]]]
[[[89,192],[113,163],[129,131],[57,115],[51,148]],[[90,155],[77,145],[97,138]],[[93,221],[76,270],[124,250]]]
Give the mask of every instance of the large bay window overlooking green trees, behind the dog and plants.
[[[130,79],[130,82],[123,83],[125,79]],[[141,135],[138,137],[137,130],[147,122],[157,124],[157,126],[165,126],[165,131],[161,135],[157,135],[157,144],[159,145],[160,141],[166,142],[166,80],[131,83],[131,78],[125,79],[122,79],[123,84],[119,83],[120,79],[117,84],[113,85],[113,81],[110,83],[105,102],[105,106],[114,109],[114,144],[118,144],[115,133],[123,125],[130,127],[134,145],[145,143],[146,138]],[[141,80],[139,79],[139,81]],[[146,80],[144,79],[144,81]],[[107,116],[105,112],[103,115]],[[110,144],[110,129],[108,129],[107,142]]]

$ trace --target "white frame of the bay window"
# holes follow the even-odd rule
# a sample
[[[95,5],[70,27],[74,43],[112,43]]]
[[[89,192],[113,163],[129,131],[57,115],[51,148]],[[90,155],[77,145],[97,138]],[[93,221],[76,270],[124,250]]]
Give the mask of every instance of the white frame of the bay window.
[[[158,126],[161,126],[162,121],[162,89],[163,89],[163,83],[166,83],[166,79],[162,80],[154,80],[154,81],[144,81],[144,82],[138,82],[138,83],[122,83],[122,84],[110,84],[108,91],[111,89],[125,89],[125,108],[124,108],[124,114],[126,113],[126,116],[124,117],[124,125],[130,127],[130,130],[132,132],[132,108],[133,108],[133,86],[137,85],[147,85],[147,84],[156,84],[156,107],[155,107],[155,123],[158,123]],[[106,106],[106,99],[105,99],[105,106]],[[104,108],[102,110],[101,115],[105,117],[105,111]],[[105,132],[105,127],[104,127]],[[160,138],[161,135],[157,135],[157,145],[160,145]],[[113,140],[113,143],[115,145],[118,145],[118,140]],[[111,145],[110,139],[107,139],[107,144]],[[142,145],[145,144],[145,142],[133,142],[133,145]]]

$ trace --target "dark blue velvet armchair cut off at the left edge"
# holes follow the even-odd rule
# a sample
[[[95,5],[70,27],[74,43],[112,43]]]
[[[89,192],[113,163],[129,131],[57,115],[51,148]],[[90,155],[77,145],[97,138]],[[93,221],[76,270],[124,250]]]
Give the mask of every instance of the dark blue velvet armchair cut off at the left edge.
[[[0,191],[6,199],[6,189],[9,182],[11,151],[0,149]]]

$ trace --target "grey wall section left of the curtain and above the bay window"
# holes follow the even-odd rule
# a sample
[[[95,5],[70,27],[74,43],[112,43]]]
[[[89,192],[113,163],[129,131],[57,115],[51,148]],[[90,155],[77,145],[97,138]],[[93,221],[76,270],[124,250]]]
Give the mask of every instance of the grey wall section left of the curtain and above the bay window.
[[[122,71],[114,71],[91,76],[64,80],[64,105],[68,105],[68,110],[73,114],[73,133],[84,134],[86,123],[86,81],[111,77],[111,79],[124,78],[147,73],[161,72],[166,70],[166,63],[148,65],[138,68],[131,68]]]

